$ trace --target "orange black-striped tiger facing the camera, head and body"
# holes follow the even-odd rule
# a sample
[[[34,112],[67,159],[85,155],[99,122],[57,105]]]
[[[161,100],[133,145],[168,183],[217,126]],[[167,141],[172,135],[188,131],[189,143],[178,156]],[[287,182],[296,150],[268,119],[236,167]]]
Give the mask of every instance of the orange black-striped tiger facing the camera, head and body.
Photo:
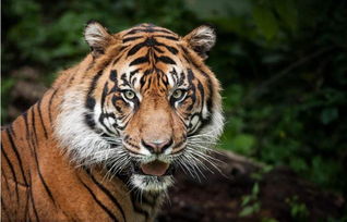
[[[175,172],[214,164],[220,84],[202,25],[84,28],[86,57],[1,130],[3,221],[154,221]],[[215,164],[214,164],[215,165]]]

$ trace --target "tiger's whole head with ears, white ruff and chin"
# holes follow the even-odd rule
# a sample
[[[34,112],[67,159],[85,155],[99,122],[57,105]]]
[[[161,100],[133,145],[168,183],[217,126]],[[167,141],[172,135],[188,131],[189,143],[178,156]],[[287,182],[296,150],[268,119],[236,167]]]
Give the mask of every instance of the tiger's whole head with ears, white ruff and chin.
[[[214,29],[180,37],[141,24],[109,34],[91,22],[84,35],[84,76],[67,89],[56,127],[73,160],[125,173],[142,190],[166,189],[177,168],[198,176],[224,122],[218,81],[204,64]]]

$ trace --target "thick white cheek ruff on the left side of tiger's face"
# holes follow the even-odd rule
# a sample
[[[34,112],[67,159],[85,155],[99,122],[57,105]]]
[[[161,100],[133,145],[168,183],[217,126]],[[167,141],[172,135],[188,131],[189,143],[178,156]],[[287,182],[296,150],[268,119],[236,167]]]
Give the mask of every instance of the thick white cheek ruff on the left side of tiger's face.
[[[84,122],[87,112],[82,91],[70,90],[63,96],[61,112],[56,120],[55,133],[64,151],[80,164],[103,162],[112,155],[109,143],[105,141]],[[101,153],[100,151],[105,151]]]

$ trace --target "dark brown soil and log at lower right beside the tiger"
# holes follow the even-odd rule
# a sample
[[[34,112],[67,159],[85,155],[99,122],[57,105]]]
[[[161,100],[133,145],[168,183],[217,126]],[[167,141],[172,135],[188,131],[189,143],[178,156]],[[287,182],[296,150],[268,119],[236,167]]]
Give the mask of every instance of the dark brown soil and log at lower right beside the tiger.
[[[201,182],[183,173],[176,175],[177,183],[169,192],[170,200],[165,203],[159,222],[326,221],[342,217],[342,196],[313,186],[287,168],[260,173],[261,165],[231,152],[224,153],[226,156],[218,157],[225,162],[222,173],[204,172],[206,178]],[[255,200],[242,207],[243,197],[252,193],[255,183],[259,184]],[[239,215],[242,209],[254,203],[260,205],[258,211]],[[299,205],[307,210],[291,212]]]

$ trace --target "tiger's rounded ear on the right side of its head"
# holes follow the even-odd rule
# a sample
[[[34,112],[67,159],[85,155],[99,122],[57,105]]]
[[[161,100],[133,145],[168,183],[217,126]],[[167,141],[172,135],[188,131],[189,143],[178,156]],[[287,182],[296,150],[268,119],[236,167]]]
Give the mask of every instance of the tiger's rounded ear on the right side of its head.
[[[184,36],[183,39],[205,60],[207,59],[207,52],[216,42],[216,32],[212,26],[202,25]]]

